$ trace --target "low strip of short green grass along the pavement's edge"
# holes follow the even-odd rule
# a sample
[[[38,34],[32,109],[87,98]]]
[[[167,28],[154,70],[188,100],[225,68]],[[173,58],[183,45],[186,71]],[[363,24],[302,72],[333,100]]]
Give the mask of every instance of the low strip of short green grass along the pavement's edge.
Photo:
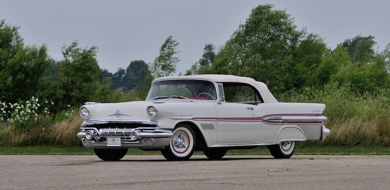
[[[95,155],[82,146],[8,146],[0,147],[0,155]],[[160,151],[130,148],[127,155],[160,155]],[[196,151],[194,155],[203,155]],[[266,147],[228,150],[227,155],[270,155]],[[390,155],[385,146],[297,146],[294,155]]]

